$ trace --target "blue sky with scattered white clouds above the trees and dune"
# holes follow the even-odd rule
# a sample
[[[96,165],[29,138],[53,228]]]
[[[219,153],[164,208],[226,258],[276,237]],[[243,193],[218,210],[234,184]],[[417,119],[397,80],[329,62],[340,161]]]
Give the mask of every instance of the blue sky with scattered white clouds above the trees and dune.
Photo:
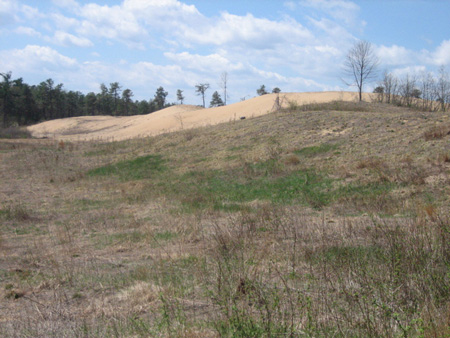
[[[190,104],[198,83],[221,92],[223,72],[229,102],[262,84],[354,90],[341,65],[360,39],[380,70],[450,70],[449,13],[449,0],[0,0],[0,73],[85,94],[119,82],[137,100],[163,86]]]

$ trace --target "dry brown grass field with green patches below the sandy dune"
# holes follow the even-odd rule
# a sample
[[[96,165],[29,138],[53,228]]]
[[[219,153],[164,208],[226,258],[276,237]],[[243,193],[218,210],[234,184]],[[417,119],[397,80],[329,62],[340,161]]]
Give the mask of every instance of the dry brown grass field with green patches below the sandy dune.
[[[1,139],[0,182],[1,337],[450,337],[448,113]]]

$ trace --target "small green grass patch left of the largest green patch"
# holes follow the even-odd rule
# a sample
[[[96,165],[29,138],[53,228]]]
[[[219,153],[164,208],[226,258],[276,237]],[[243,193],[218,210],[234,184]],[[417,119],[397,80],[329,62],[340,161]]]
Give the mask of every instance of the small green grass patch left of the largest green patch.
[[[88,172],[88,176],[117,176],[121,181],[152,178],[167,169],[161,155],[146,155],[105,165]]]

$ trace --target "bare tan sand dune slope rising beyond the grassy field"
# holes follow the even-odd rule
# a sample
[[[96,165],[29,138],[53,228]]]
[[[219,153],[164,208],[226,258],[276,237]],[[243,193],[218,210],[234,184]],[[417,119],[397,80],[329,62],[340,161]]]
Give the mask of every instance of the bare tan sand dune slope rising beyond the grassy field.
[[[28,129],[35,137],[58,140],[124,140],[239,120],[241,117],[260,116],[276,109],[276,98],[276,94],[268,94],[225,107],[208,109],[192,105],[177,105],[148,115],[72,117],[43,122]],[[357,93],[315,92],[280,93],[279,95],[282,106],[287,106],[289,102],[305,104],[334,100],[355,101]],[[369,94],[365,94],[365,100],[370,100]]]

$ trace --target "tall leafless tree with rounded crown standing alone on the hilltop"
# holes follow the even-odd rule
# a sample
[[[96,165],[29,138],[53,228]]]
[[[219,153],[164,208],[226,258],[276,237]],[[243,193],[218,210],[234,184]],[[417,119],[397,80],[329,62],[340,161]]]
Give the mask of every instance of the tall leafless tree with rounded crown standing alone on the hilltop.
[[[344,74],[351,81],[344,82],[358,87],[359,101],[362,101],[363,86],[376,77],[378,63],[370,42],[359,41],[348,52],[344,62]]]

